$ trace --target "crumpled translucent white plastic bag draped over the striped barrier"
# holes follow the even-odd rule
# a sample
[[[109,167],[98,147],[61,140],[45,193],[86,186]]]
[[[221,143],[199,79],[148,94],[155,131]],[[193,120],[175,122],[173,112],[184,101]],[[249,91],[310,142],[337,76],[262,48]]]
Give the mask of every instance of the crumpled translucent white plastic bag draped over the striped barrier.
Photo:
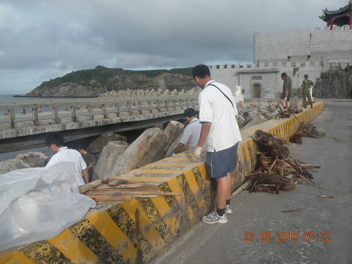
[[[55,237],[94,207],[78,192],[74,163],[0,175],[0,251]]]

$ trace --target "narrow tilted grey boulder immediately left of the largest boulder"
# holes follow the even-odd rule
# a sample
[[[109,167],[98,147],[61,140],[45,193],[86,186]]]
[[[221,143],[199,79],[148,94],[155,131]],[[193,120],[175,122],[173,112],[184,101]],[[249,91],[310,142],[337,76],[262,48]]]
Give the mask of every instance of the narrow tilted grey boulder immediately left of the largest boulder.
[[[96,163],[93,180],[103,179],[107,172],[113,168],[116,159],[120,157],[127,147],[127,142],[108,142],[108,144],[104,146],[103,151],[101,151],[99,160]]]

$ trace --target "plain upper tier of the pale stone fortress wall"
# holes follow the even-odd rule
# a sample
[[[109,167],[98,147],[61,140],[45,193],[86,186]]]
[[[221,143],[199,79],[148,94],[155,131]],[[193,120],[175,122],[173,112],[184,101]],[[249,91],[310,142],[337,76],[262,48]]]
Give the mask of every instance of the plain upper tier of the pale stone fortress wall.
[[[352,60],[352,30],[349,26],[315,27],[253,36],[254,62],[337,62]]]

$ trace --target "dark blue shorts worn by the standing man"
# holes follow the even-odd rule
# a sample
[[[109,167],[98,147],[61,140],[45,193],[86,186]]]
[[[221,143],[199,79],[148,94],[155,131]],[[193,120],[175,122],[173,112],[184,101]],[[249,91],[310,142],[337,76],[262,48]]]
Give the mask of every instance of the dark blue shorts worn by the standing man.
[[[212,178],[222,178],[227,172],[233,172],[237,163],[237,148],[235,144],[229,149],[206,153],[206,170]]]

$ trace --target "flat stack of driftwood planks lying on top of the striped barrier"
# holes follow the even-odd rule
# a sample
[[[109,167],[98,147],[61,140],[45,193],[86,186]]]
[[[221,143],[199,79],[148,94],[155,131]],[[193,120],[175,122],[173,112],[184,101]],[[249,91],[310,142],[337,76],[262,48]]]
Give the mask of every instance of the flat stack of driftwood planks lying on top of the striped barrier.
[[[177,192],[158,191],[158,186],[145,182],[132,182],[114,178],[96,180],[79,188],[80,193],[96,202],[115,203],[129,201],[133,197],[158,197],[159,195],[181,195]]]

